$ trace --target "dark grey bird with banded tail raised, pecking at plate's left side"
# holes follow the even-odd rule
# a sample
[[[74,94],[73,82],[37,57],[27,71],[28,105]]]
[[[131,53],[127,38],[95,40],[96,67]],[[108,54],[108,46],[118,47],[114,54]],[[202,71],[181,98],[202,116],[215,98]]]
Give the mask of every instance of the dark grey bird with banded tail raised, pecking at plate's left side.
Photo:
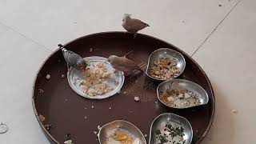
[[[73,51],[66,50],[61,44],[58,46],[62,50],[62,54],[66,60],[68,70],[70,70],[69,66],[72,66],[76,70],[86,70],[86,60],[84,60],[79,54],[75,54]]]

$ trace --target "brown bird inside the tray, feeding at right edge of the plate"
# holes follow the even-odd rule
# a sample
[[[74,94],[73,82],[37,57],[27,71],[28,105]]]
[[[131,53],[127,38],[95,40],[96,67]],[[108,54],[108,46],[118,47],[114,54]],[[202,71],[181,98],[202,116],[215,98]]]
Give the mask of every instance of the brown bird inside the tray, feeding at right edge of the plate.
[[[114,69],[124,72],[125,75],[130,74],[134,70],[140,70],[143,72],[143,70],[136,64],[136,62],[126,58],[126,56],[118,57],[116,55],[110,55],[107,60],[114,67]]]

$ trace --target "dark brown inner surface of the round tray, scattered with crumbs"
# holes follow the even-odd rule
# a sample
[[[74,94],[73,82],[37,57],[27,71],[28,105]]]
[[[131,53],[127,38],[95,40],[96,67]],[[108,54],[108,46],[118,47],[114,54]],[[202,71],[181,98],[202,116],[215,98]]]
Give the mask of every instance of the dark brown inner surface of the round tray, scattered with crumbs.
[[[133,59],[146,71],[146,63],[150,54],[161,47],[178,50],[175,46],[143,34],[133,38],[123,32],[107,32],[91,34],[66,44],[66,48],[81,54],[82,57],[100,56],[107,58],[111,54],[126,55]],[[34,83],[34,112],[45,117],[39,122],[46,137],[52,143],[63,143],[65,134],[75,144],[98,144],[98,126],[114,120],[126,120],[138,126],[143,134],[147,134],[148,142],[150,125],[159,114],[174,113],[186,118],[193,130],[192,143],[199,143],[206,136],[214,118],[214,92],[202,69],[183,51],[178,50],[186,59],[186,69],[178,77],[198,83],[209,95],[205,106],[185,110],[174,110],[158,102],[156,89],[158,82],[153,82],[146,74],[134,73],[126,77],[120,94],[102,100],[82,98],[70,88],[62,74],[66,74],[66,62],[61,51],[56,51],[46,60],[38,71]],[[50,80],[46,80],[50,74]],[[43,93],[42,93],[43,90]],[[135,102],[134,97],[140,102]],[[46,130],[44,126],[50,125]]]

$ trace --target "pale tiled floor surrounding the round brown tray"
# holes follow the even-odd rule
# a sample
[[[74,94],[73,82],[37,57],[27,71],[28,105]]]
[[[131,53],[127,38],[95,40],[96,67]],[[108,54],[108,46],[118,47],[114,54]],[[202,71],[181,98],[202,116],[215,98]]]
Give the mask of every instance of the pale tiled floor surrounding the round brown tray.
[[[150,24],[141,33],[173,43],[206,70],[217,111],[202,143],[254,142],[255,7],[254,0],[0,0],[0,122],[10,127],[0,143],[47,143],[30,102],[39,66],[58,43],[122,30],[124,13]]]

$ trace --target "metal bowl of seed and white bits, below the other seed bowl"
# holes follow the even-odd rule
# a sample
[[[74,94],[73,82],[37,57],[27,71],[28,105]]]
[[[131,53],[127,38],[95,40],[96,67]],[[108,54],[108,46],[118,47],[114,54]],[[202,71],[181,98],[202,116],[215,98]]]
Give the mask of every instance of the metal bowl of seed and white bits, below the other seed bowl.
[[[157,93],[162,104],[176,109],[205,105],[209,101],[202,86],[185,79],[162,82],[157,88]]]

